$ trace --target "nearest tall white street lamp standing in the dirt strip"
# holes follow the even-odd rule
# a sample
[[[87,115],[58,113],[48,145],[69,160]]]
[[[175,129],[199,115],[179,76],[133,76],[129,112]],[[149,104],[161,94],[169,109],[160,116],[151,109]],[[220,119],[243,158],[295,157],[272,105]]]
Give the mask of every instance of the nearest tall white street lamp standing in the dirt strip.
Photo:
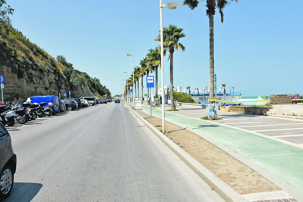
[[[161,38],[161,91],[162,91],[162,132],[165,133],[165,112],[164,112],[164,69],[163,69],[163,17],[162,8],[176,9],[180,4],[178,2],[168,2],[162,4],[160,0],[160,38]],[[158,89],[156,89],[158,90]]]

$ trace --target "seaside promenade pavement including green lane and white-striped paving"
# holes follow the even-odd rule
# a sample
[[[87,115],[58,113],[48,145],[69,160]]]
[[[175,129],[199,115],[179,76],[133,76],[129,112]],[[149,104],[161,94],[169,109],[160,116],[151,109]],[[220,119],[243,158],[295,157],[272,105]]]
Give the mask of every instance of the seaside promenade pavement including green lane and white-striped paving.
[[[168,109],[170,106],[165,106]],[[246,165],[303,201],[302,121],[221,111],[223,120],[205,121],[200,119],[207,116],[205,109],[177,109],[180,111],[165,111],[165,120],[219,143],[223,150],[233,151],[238,160],[248,160]],[[141,116],[148,116],[150,107],[143,105],[142,111]],[[161,108],[152,107],[152,116],[161,118],[161,113]]]

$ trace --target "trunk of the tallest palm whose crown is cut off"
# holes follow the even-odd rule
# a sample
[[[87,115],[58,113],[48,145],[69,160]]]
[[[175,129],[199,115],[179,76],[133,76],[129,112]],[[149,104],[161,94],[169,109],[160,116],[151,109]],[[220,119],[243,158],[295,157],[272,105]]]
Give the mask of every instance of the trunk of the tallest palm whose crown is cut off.
[[[209,97],[215,97],[214,93],[214,15],[209,14],[209,69],[210,69],[210,83],[209,83]]]

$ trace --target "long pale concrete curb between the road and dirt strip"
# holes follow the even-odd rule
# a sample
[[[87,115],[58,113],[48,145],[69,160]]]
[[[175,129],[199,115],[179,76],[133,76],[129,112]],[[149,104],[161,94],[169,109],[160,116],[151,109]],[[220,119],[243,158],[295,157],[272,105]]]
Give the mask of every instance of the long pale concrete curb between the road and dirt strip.
[[[126,105],[127,106],[127,105]],[[179,158],[182,159],[193,171],[195,171],[210,187],[226,201],[228,202],[247,202],[247,200],[241,196],[238,192],[232,189],[228,184],[218,178],[215,174],[210,172],[196,159],[190,156],[187,152],[177,146],[168,137],[151,125],[148,121],[142,118],[135,110],[127,106],[161,141],[168,146]]]

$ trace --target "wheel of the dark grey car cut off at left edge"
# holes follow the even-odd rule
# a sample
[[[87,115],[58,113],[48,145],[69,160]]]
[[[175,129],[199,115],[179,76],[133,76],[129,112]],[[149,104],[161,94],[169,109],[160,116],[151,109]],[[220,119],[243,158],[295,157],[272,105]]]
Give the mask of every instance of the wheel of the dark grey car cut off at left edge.
[[[14,184],[14,174],[9,165],[4,166],[1,171],[1,184],[0,184],[0,199],[3,200],[11,193]]]

